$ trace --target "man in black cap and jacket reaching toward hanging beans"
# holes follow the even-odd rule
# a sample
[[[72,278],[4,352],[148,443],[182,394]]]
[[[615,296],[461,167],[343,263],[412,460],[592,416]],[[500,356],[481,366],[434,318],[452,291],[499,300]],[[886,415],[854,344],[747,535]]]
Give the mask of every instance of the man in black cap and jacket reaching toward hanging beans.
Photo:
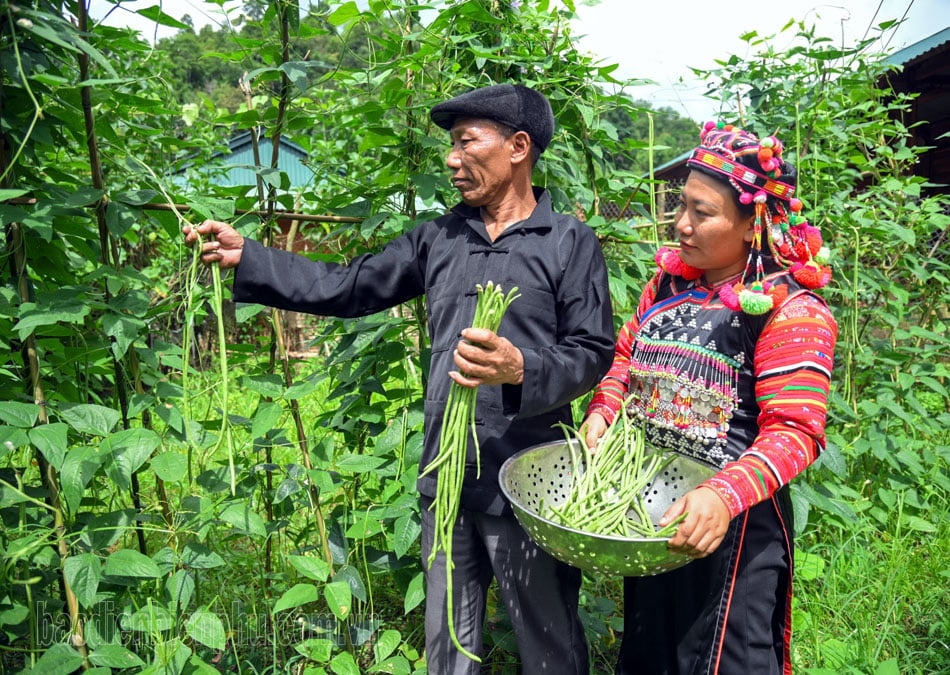
[[[432,363],[425,392],[421,466],[438,453],[451,382],[479,386],[476,425],[481,473],[470,448],[452,540],[453,623],[461,645],[482,652],[482,625],[494,577],[518,642],[524,673],[586,673],[587,642],[577,615],[580,572],[539,549],[498,486],[511,455],[563,438],[571,401],[604,375],[614,330],[607,273],[594,233],[552,210],[532,187],[554,116],[533,89],[501,84],[431,110],[451,134],[446,160],[462,203],[347,265],[313,262],[243,239],[205,221],[202,259],[235,267],[234,299],[321,315],[371,314],[426,296]],[[186,241],[197,235],[185,228]],[[473,329],[476,284],[517,286],[498,334]],[[420,478],[426,568],[426,658],[430,673],[477,673],[447,630],[445,560],[425,560],[438,475]]]

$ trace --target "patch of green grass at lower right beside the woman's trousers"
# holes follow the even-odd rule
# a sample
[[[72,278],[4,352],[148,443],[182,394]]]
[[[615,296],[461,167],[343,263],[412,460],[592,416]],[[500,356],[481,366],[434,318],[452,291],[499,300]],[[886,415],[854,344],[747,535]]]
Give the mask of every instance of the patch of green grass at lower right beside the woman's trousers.
[[[793,657],[799,672],[950,670],[950,509],[936,532],[820,528],[797,575]]]

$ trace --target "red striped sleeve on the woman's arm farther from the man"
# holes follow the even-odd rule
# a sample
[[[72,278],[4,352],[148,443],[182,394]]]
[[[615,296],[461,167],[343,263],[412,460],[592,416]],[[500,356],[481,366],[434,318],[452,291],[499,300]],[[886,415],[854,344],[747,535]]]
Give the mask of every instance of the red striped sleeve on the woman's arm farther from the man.
[[[825,445],[828,388],[838,329],[820,298],[791,296],[755,348],[759,433],[704,486],[735,517],[769,498],[815,461]]]

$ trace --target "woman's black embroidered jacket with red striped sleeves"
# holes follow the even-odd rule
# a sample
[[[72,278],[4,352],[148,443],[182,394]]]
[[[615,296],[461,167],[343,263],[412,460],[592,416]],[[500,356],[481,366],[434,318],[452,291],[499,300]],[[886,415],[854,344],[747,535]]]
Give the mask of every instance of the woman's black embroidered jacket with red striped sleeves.
[[[788,283],[788,298],[752,316],[725,307],[715,288],[658,273],[587,410],[612,422],[627,400],[652,444],[720,469],[704,485],[733,517],[801,473],[825,442],[837,325],[790,276],[767,279]]]

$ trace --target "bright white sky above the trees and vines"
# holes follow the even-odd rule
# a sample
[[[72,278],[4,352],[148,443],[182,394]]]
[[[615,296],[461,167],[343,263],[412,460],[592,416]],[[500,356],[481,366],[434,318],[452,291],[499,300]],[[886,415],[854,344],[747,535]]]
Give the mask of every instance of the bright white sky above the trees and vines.
[[[132,26],[149,40],[176,31],[160,26],[156,33],[153,23],[128,9],[160,3],[166,14],[179,20],[187,14],[200,27],[222,24],[225,10],[235,15],[234,8],[241,5],[239,0],[219,0],[225,8],[219,9],[202,0],[124,0],[112,9],[116,3],[110,0],[90,1],[94,20],[108,14],[106,23]],[[869,31],[873,35],[873,27],[883,21],[906,17],[887,33],[888,47],[896,51],[950,27],[950,0],[575,0],[575,6],[573,34],[583,52],[603,64],[617,64],[618,79],[655,82],[630,90],[632,96],[699,122],[714,117],[716,104],[703,97],[704,87],[690,68],[714,68],[716,59],[731,54],[751,55],[739,39],[744,33],[774,35],[789,20],[804,20],[819,35],[850,45]]]

